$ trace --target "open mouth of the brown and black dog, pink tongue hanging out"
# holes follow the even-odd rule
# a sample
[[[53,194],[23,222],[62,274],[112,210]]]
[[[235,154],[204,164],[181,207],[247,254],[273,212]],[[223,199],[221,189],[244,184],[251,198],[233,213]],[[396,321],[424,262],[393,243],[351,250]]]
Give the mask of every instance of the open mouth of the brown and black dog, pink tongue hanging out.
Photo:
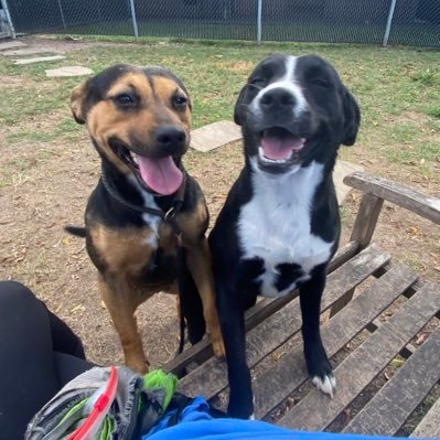
[[[171,155],[146,158],[121,144],[118,144],[116,153],[149,191],[160,195],[174,194],[183,182],[182,170]]]

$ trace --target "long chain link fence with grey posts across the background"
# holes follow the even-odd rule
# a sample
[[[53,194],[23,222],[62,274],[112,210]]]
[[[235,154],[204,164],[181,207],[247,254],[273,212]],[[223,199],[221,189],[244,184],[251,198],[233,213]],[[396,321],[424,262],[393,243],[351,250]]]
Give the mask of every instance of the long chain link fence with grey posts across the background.
[[[17,32],[440,47],[439,0],[3,0]]]

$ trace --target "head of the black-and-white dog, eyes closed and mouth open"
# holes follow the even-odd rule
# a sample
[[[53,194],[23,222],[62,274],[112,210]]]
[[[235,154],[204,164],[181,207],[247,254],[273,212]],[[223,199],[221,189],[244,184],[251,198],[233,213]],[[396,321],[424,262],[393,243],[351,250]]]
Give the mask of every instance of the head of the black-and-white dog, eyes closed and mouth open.
[[[246,160],[271,173],[329,163],[352,146],[359,109],[336,71],[316,55],[272,55],[250,74],[235,106]]]

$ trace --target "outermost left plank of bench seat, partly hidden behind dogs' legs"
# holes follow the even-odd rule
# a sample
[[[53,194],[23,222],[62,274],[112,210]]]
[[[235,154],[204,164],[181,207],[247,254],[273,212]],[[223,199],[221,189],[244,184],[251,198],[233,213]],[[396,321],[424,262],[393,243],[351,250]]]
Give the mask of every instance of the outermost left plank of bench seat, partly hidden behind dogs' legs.
[[[358,245],[354,242],[348,243],[337,250],[336,255],[330,261],[328,267],[328,273],[333,272],[339,267],[341,267],[344,262],[348,261],[352,257],[354,257],[358,253]],[[389,256],[388,256],[389,259]],[[271,314],[276,313],[282,307],[285,307],[288,302],[290,302],[293,298],[298,296],[298,291],[293,291],[286,297],[278,298],[276,300],[267,300],[264,299],[259,301],[255,307],[246,312],[246,330],[251,330],[259,322],[264,321]],[[170,361],[162,368],[167,372],[172,372],[175,374],[180,374],[180,372],[187,365],[193,362],[205,362],[213,355],[213,350],[207,337],[204,337],[197,344],[191,346],[185,350],[182,354],[175,356],[172,361]]]

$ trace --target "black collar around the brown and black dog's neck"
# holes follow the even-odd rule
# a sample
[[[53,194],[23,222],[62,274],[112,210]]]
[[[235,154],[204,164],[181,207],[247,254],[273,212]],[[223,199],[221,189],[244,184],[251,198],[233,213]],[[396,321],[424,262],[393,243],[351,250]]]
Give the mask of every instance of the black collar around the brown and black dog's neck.
[[[158,217],[162,218],[163,222],[169,223],[176,235],[181,234],[179,225],[175,222],[175,215],[179,213],[179,211],[181,210],[181,207],[183,205],[183,196],[185,193],[185,183],[186,183],[186,174],[185,173],[183,173],[183,182],[182,182],[180,189],[174,194],[171,207],[167,212],[163,212],[162,210],[157,210],[154,207],[135,205],[135,204],[126,201],[119,194],[118,190],[112,184],[112,182],[107,178],[107,174],[106,174],[104,168],[101,169],[100,179],[101,179],[104,187],[106,189],[108,194],[111,197],[114,197],[117,202],[119,202],[121,205],[124,205],[132,211],[136,211],[138,213],[157,215]]]

